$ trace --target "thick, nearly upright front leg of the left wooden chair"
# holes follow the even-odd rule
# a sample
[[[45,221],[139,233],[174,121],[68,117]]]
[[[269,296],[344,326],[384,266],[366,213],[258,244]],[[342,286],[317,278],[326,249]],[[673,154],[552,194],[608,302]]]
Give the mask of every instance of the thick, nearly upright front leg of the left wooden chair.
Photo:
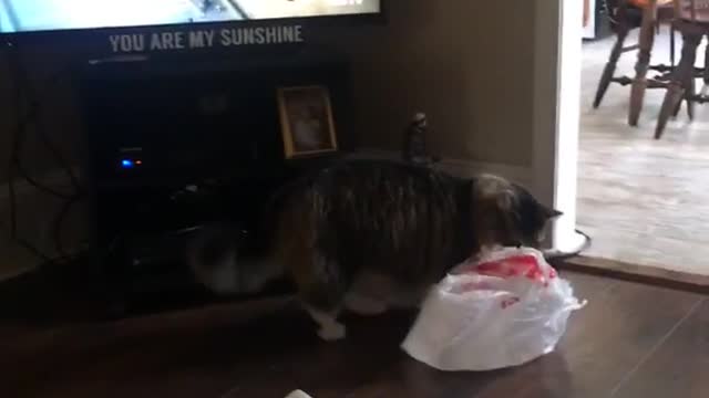
[[[653,53],[653,44],[655,42],[655,32],[653,24],[655,23],[655,12],[651,7],[643,10],[643,25],[640,27],[640,50],[638,51],[638,60],[635,64],[635,78],[630,87],[630,107],[628,112],[628,124],[637,126],[643,111],[643,101],[645,100],[645,90],[647,88],[647,71],[650,65],[650,56]]]

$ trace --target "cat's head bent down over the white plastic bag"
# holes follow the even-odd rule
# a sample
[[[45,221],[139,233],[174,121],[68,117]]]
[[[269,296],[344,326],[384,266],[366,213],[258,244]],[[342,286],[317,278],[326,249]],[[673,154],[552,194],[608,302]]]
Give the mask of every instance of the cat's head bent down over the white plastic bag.
[[[563,213],[540,202],[526,188],[494,176],[479,178],[482,244],[540,249],[549,221]]]

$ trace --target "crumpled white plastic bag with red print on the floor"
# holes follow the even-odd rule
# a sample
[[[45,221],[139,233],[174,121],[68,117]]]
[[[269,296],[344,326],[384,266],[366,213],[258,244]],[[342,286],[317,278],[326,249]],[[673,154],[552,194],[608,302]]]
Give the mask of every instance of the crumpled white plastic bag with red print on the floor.
[[[402,348],[440,370],[517,366],[553,352],[585,305],[540,251],[503,248],[432,289]]]

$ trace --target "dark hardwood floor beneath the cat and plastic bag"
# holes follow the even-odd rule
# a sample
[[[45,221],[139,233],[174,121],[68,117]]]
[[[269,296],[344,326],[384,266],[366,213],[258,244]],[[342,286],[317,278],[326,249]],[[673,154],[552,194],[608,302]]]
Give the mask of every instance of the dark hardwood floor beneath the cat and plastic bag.
[[[95,322],[72,316],[91,307],[89,298],[68,308],[76,294],[14,286],[0,294],[0,395],[707,397],[707,296],[562,274],[589,304],[573,315],[558,349],[490,373],[436,371],[408,357],[399,348],[413,320],[405,313],[347,317],[348,338],[326,344],[282,297]]]

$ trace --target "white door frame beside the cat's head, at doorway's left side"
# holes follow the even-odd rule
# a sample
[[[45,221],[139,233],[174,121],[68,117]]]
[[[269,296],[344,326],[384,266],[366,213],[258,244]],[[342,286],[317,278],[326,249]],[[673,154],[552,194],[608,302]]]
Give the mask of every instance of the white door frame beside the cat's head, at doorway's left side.
[[[533,179],[535,195],[564,212],[553,250],[580,248],[576,232],[583,1],[535,0]]]

